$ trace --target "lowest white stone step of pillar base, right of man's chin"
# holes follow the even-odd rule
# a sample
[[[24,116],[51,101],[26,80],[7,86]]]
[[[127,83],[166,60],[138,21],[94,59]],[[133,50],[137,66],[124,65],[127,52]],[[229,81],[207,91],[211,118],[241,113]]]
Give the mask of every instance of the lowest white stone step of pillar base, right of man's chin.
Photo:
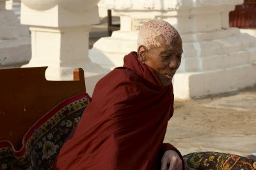
[[[256,63],[212,71],[176,73],[173,78],[174,96],[189,99],[236,91],[255,85],[255,73]]]

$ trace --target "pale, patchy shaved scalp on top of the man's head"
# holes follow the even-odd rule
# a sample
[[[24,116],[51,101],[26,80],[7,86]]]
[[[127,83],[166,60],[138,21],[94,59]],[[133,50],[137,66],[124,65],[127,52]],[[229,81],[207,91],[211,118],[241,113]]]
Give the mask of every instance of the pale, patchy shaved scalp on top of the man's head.
[[[164,43],[170,46],[172,41],[181,41],[179,32],[164,20],[150,20],[141,26],[138,35],[138,47],[143,45],[150,50]]]

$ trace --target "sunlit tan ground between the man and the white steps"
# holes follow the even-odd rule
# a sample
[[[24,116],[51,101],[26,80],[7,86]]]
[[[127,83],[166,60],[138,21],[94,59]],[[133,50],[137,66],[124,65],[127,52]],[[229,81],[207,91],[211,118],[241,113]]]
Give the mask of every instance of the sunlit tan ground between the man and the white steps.
[[[191,152],[256,152],[256,86],[204,99],[175,101],[165,142]]]

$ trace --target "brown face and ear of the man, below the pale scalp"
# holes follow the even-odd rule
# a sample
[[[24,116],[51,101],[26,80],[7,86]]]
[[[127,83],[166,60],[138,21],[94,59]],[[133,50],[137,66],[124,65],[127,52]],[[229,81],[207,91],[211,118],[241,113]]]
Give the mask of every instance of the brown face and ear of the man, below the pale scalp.
[[[157,77],[161,83],[166,86],[172,83],[172,78],[180,66],[182,55],[182,41],[179,37],[166,45],[166,41],[163,37],[158,39],[159,46],[151,46],[150,50],[142,49],[145,53],[140,53],[139,59],[154,69]],[[142,57],[140,55],[143,55]]]

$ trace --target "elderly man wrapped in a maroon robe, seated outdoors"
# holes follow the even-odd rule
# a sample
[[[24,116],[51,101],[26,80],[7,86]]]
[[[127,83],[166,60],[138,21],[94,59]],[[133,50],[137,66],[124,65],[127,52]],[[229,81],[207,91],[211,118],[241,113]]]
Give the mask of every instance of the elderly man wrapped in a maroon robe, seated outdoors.
[[[56,169],[182,169],[182,156],[163,143],[173,115],[172,78],[182,40],[163,20],[146,22],[138,52],[124,57],[96,85],[92,103],[61,148]]]

